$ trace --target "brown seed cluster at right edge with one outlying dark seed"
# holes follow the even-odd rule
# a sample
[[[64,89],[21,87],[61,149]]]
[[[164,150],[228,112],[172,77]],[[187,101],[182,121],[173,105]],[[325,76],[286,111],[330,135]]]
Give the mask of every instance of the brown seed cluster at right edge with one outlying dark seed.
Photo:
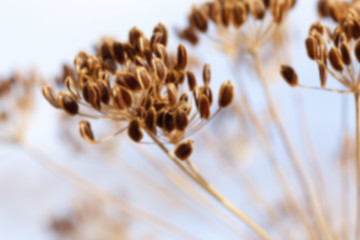
[[[320,22],[314,23],[310,27],[305,46],[308,57],[318,64],[321,87],[326,88],[327,76],[330,74],[351,92],[359,92],[359,2],[354,2],[347,8],[333,31]],[[287,73],[284,73],[284,69]],[[291,86],[295,86],[297,81],[292,79],[289,74],[291,71],[294,72],[289,66],[282,67],[283,77]]]

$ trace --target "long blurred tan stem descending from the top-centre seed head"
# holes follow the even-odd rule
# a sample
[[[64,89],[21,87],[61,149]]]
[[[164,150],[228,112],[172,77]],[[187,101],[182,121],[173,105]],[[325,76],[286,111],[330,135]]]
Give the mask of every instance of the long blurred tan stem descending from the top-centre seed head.
[[[333,239],[331,231],[330,231],[329,223],[327,222],[327,219],[325,218],[325,216],[322,212],[322,208],[321,208],[319,200],[316,196],[316,191],[313,188],[313,186],[309,180],[309,177],[306,174],[305,167],[303,166],[301,160],[298,158],[298,156],[295,152],[295,149],[293,148],[291,141],[285,131],[285,128],[281,123],[280,117],[276,111],[275,104],[274,104],[274,101],[273,101],[271,93],[270,93],[270,88],[265,79],[265,75],[264,75],[264,71],[262,68],[262,63],[261,63],[260,57],[257,52],[252,52],[252,55],[255,60],[255,66],[256,66],[256,70],[259,74],[260,80],[261,80],[261,85],[263,86],[263,90],[264,90],[265,97],[266,97],[266,100],[268,103],[268,108],[269,108],[271,117],[280,133],[280,136],[281,136],[282,141],[284,142],[284,145],[286,146],[286,151],[292,159],[292,161],[290,161],[290,162],[292,164],[293,169],[295,170],[295,174],[296,174],[298,180],[300,181],[303,191],[305,193],[307,193],[310,198],[310,205],[312,207],[313,213],[316,216],[317,220],[319,221],[320,227],[323,229],[326,238]]]

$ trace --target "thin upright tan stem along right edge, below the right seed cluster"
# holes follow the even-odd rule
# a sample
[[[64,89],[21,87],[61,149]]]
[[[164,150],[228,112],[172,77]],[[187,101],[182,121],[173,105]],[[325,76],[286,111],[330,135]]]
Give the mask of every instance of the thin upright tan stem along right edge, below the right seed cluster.
[[[357,214],[356,214],[356,235],[355,239],[360,238],[360,106],[359,94],[355,94],[356,107],[356,177],[357,177]]]

